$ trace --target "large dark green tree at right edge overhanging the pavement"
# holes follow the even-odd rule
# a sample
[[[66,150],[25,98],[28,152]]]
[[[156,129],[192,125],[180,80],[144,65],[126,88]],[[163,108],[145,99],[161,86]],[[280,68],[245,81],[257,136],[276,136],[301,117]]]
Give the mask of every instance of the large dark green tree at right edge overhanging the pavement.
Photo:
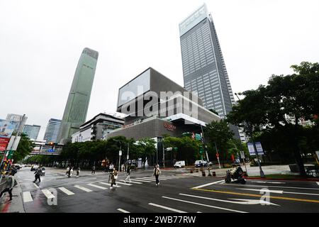
[[[280,143],[293,152],[301,175],[306,176],[299,144],[303,127],[298,121],[314,121],[318,116],[319,64],[301,62],[291,67],[294,74],[273,75],[267,86],[243,92],[245,99],[233,107],[228,121],[242,126],[250,136],[257,131],[280,132]]]

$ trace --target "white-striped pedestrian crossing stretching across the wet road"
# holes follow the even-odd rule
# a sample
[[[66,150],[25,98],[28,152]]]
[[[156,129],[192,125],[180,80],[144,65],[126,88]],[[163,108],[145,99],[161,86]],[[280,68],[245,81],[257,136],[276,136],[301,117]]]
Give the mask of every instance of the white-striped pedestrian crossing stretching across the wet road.
[[[169,179],[178,179],[178,178],[184,178],[184,175],[172,175],[172,176],[163,176],[159,177],[159,181],[166,181]],[[140,185],[140,184],[153,184],[155,182],[155,177],[131,177],[130,181],[126,181],[124,179],[118,179],[116,181],[116,185],[113,185],[113,187],[120,188],[120,187],[130,187],[133,185]],[[49,189],[40,189],[40,187],[37,187],[35,190],[39,192],[42,192],[42,194],[47,199],[53,199],[55,196],[52,194],[52,192],[49,191]],[[111,184],[106,182],[106,180],[101,180],[101,182],[91,182],[86,184],[70,184],[67,188],[66,187],[58,187],[58,192],[65,194],[66,196],[73,196],[79,192],[94,192],[96,190],[106,190],[111,189]],[[37,194],[38,196],[38,194]],[[29,203],[33,201],[35,198],[33,198],[33,195],[30,191],[23,192],[23,203]]]

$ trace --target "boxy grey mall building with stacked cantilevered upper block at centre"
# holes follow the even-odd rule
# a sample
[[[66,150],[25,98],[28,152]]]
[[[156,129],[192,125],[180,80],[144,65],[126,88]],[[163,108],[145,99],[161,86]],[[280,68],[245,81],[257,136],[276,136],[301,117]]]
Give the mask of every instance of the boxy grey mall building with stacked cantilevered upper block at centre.
[[[108,134],[126,138],[155,138],[201,133],[201,128],[220,117],[202,106],[197,96],[152,68],[119,89],[118,112],[127,114],[125,124]]]

